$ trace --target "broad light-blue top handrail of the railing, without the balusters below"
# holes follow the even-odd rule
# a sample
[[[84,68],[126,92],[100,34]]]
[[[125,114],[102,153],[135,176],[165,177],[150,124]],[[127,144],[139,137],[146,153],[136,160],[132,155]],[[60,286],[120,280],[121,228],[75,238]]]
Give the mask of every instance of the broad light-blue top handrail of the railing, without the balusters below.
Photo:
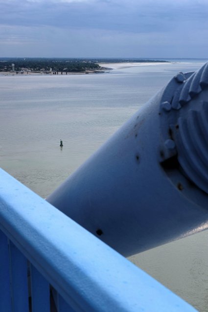
[[[196,311],[2,170],[0,185],[0,229],[69,311]]]

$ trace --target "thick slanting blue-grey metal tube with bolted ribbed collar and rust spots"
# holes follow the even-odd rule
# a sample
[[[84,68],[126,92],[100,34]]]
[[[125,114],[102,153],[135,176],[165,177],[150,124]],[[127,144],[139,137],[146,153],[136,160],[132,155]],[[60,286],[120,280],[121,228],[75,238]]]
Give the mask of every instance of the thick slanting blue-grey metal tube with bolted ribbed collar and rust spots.
[[[125,256],[207,229],[207,99],[177,74],[47,201]]]

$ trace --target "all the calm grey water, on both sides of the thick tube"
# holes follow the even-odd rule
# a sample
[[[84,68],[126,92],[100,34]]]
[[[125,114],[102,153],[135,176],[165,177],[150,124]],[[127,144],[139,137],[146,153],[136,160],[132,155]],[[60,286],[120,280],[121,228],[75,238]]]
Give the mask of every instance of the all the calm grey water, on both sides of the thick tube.
[[[189,60],[94,75],[0,76],[0,166],[45,198],[175,73],[201,65]],[[208,232],[130,260],[208,311]]]

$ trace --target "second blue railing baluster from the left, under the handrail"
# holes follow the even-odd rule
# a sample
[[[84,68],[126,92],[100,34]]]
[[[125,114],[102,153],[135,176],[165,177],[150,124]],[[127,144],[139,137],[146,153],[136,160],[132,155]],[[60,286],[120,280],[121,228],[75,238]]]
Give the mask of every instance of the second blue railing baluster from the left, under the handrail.
[[[11,241],[9,246],[12,311],[28,312],[27,260]]]

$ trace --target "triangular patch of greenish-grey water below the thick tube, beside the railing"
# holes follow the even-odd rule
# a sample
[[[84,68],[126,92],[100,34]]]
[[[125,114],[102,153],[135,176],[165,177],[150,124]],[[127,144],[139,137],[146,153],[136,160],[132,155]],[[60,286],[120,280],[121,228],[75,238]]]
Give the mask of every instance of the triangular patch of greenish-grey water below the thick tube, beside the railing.
[[[199,311],[208,311],[208,231],[129,259]]]

